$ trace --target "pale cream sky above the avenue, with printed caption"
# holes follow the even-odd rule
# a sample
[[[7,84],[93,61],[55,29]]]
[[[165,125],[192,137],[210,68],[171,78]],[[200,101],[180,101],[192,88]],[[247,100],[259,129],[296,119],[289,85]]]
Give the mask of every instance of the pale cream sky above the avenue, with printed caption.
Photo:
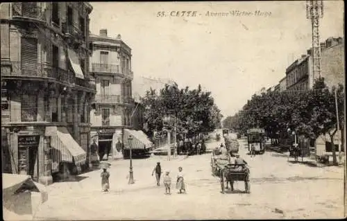
[[[91,5],[90,31],[107,28],[109,37],[121,35],[132,48],[134,78],[171,78],[182,88],[201,84],[224,117],[242,109],[262,87],[277,85],[286,67],[312,46],[305,1]],[[231,14],[237,10],[244,14]],[[262,13],[255,15],[257,10]],[[162,11],[166,16],[158,17]],[[197,16],[170,16],[172,11],[196,11]],[[228,15],[212,17],[211,12]],[[344,37],[343,1],[324,1],[320,37]]]

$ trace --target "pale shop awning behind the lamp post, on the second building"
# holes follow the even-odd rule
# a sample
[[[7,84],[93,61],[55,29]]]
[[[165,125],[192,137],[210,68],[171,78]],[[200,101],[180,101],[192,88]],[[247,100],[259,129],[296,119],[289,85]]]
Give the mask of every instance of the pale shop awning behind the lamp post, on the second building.
[[[124,130],[124,147],[129,148],[129,142],[128,138],[129,136],[133,136],[133,143],[131,145],[131,148],[133,149],[147,149],[151,148],[153,143],[149,141],[146,134],[142,132],[141,130]]]

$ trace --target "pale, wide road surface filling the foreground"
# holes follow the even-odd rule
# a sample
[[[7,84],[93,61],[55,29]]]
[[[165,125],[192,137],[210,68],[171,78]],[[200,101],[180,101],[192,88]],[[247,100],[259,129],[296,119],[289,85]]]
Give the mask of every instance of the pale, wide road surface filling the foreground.
[[[343,168],[313,168],[287,162],[281,154],[265,152],[250,158],[244,141],[240,154],[251,167],[251,193],[244,183],[235,193],[221,194],[219,179],[211,175],[210,154],[167,161],[155,156],[133,161],[135,184],[128,185],[128,160],[112,162],[109,193],[101,192],[100,171],[81,175],[79,182],[49,186],[49,200],[37,220],[162,220],[230,218],[342,218]],[[219,143],[208,143],[210,147]],[[160,161],[176,176],[183,167],[187,194],[164,195],[151,172]]]

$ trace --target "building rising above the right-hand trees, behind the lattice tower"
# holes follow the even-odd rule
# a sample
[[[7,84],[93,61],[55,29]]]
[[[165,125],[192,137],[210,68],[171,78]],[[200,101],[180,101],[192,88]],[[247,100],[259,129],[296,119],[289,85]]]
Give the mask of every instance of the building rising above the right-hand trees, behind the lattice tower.
[[[321,43],[321,77],[328,87],[344,83],[344,41],[341,37],[330,37]],[[312,48],[307,55],[293,62],[286,69],[287,89],[312,89],[314,77],[312,70]]]

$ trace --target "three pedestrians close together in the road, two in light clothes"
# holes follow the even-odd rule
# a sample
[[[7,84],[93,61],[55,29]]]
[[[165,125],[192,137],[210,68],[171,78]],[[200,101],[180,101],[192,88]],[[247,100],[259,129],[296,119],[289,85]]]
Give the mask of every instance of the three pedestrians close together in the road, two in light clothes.
[[[160,175],[162,174],[162,168],[160,166],[160,162],[157,163],[155,168],[153,169],[152,176],[155,173],[155,179],[157,181],[157,186],[160,186]],[[183,175],[183,168],[180,166],[178,168],[178,174],[176,179],[176,188],[180,191],[179,193],[185,193],[185,180]],[[170,172],[165,172],[165,176],[163,179],[165,194],[171,194],[171,177]]]

